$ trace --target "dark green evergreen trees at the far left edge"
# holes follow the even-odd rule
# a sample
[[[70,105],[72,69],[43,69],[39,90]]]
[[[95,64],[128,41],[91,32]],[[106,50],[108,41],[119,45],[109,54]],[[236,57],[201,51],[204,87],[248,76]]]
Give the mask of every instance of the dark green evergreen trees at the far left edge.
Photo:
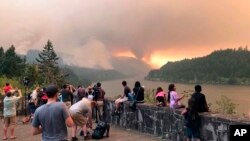
[[[0,74],[6,75],[8,78],[20,77],[25,68],[25,59],[22,59],[15,52],[14,45],[6,50],[4,53],[3,48],[0,48]]]

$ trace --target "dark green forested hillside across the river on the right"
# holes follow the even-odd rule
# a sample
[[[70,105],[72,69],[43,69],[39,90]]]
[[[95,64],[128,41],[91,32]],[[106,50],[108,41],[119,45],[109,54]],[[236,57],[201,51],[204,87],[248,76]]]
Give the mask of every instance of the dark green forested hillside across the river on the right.
[[[250,84],[250,51],[246,48],[214,51],[210,55],[168,62],[151,70],[148,80],[183,83]]]

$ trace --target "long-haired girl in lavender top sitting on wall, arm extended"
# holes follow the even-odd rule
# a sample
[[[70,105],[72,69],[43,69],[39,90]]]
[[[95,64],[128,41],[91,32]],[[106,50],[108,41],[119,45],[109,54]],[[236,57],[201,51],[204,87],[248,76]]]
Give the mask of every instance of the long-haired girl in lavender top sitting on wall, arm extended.
[[[169,84],[168,87],[169,90],[169,96],[170,96],[170,108],[179,109],[184,108],[185,106],[181,104],[180,100],[184,98],[185,95],[179,96],[176,92],[176,88],[174,84]]]

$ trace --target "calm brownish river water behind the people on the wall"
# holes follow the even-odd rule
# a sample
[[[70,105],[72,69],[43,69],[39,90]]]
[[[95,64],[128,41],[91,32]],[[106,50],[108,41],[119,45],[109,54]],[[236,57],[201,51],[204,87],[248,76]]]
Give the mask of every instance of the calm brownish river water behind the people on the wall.
[[[141,85],[145,89],[156,89],[161,86],[165,92],[168,91],[167,82],[157,82],[157,81],[146,81],[142,78],[129,78],[124,79],[128,82],[128,86],[133,88],[135,81],[140,81]],[[123,92],[122,82],[123,80],[112,80],[102,82],[102,87],[106,91],[107,97],[116,97]],[[182,94],[192,94],[194,91],[194,84],[180,84],[175,83],[176,91],[180,95]],[[216,110],[218,105],[216,101],[221,99],[221,96],[224,95],[231,99],[231,101],[237,104],[236,114],[242,115],[247,114],[250,109],[250,86],[240,86],[240,85],[202,85],[202,93],[205,94],[207,103],[211,104],[212,111]],[[187,105],[188,97],[185,97],[182,100],[182,103]]]

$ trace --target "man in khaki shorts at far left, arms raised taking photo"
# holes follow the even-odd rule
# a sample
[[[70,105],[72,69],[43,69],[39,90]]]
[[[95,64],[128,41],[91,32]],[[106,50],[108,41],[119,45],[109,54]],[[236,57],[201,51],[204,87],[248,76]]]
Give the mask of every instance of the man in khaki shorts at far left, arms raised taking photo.
[[[13,96],[14,92],[18,92],[18,96]],[[10,129],[10,134],[11,134],[11,139],[15,139],[14,131],[15,131],[15,125],[16,125],[16,102],[22,97],[22,92],[21,90],[10,90],[6,93],[6,96],[3,100],[4,104],[4,111],[3,111],[3,116],[4,116],[4,137],[3,140],[7,140],[7,131],[9,125],[11,125]]]

